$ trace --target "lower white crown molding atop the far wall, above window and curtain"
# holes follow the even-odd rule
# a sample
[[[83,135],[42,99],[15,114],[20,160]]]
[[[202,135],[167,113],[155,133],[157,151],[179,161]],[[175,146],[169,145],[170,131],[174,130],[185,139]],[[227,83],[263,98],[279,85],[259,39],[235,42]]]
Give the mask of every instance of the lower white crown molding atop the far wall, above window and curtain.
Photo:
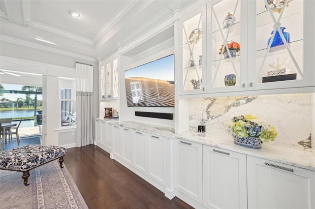
[[[12,38],[12,37],[5,36],[5,35],[0,35],[0,41],[18,44],[21,46],[26,46],[26,47],[30,47],[30,48],[34,48],[34,49],[38,49],[38,50],[43,50],[43,51],[47,51],[47,52],[52,52],[55,54],[65,55],[65,56],[69,56],[69,57],[73,57],[73,58],[78,58],[78,59],[82,59],[82,60],[98,62],[98,60],[96,60],[93,57],[88,57],[88,56],[84,56],[84,55],[80,55],[80,54],[76,54],[76,53],[72,53],[72,52],[67,52],[67,51],[60,50],[60,49],[55,49],[52,47],[43,46],[40,44],[35,44],[35,43],[29,42],[29,41],[23,41],[23,40],[20,40],[17,38]]]

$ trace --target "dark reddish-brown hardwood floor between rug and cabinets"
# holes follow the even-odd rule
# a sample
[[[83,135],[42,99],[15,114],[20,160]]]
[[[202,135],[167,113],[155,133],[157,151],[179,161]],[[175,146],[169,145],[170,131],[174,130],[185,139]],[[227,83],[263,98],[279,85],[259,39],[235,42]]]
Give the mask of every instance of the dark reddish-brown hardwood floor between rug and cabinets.
[[[169,200],[94,145],[67,149],[64,164],[89,209],[192,209],[177,197]]]

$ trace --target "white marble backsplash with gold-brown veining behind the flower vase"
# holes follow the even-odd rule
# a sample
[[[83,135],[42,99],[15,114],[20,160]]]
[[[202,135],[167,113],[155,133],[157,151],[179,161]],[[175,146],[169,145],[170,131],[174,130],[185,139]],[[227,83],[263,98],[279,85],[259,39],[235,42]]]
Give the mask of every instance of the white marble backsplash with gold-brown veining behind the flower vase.
[[[204,124],[207,136],[230,136],[225,122],[251,114],[275,127],[278,136],[268,145],[311,151],[314,106],[314,93],[194,98],[189,100],[189,129],[197,132]]]

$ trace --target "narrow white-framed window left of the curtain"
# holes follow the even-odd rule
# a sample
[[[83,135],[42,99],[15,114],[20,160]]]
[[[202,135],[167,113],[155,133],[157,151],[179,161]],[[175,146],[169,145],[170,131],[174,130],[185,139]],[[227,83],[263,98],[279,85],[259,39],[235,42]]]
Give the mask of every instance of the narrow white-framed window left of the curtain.
[[[61,126],[76,124],[75,79],[59,79]]]

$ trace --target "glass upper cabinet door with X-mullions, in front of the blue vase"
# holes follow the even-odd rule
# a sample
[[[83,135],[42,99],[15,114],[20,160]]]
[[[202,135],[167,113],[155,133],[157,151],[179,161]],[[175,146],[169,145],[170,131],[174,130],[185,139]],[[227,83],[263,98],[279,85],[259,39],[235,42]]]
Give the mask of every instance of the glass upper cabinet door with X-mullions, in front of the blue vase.
[[[315,86],[315,2],[248,3],[249,90]]]

